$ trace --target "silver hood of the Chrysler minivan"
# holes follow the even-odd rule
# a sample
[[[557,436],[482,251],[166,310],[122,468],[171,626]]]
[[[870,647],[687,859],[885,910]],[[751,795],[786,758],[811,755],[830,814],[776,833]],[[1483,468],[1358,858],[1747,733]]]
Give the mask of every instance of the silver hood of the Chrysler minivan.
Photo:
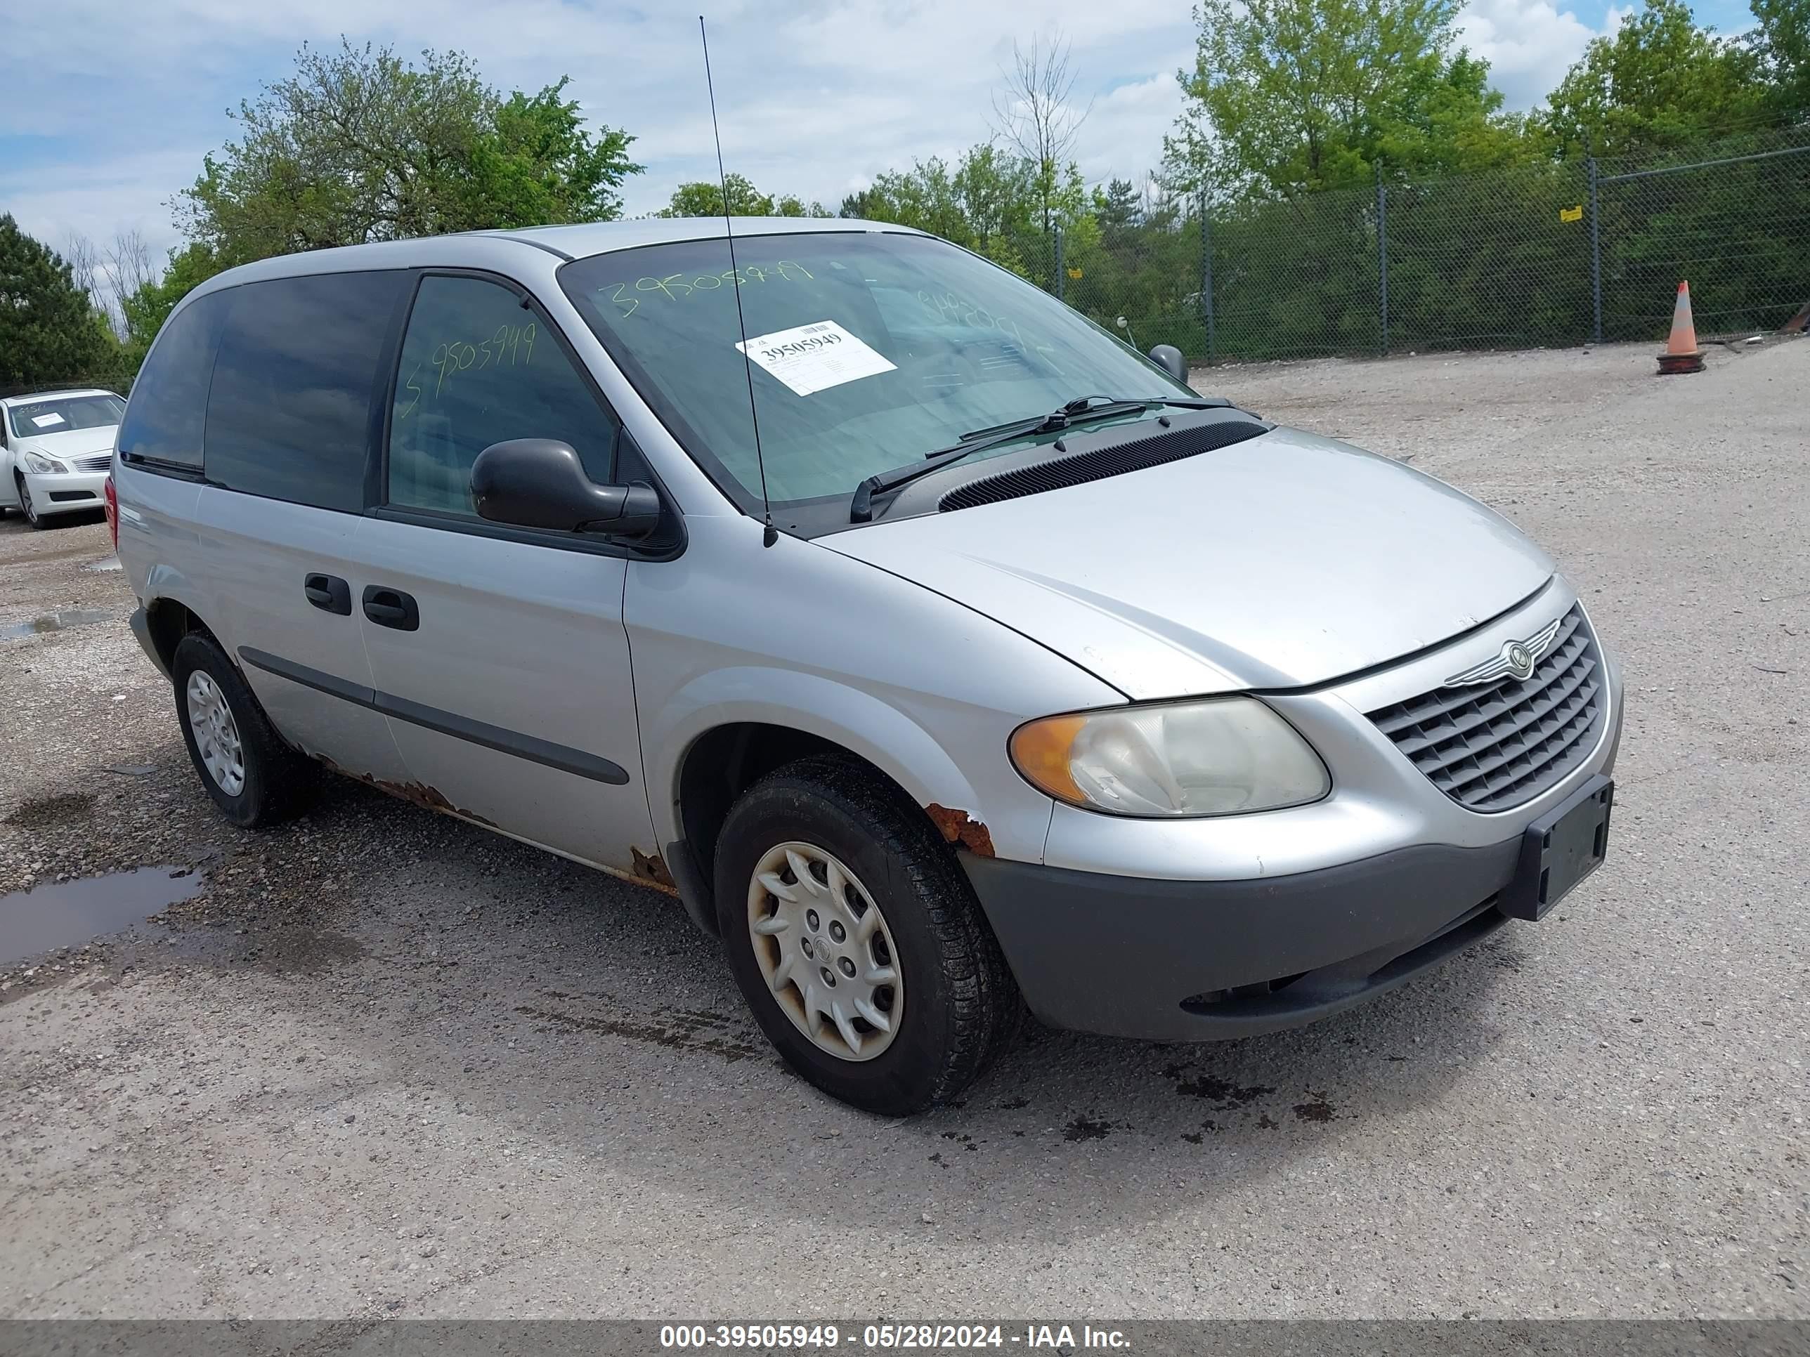
[[[1450,485],[1294,429],[816,541],[1135,700],[1339,678],[1468,631],[1553,574]]]

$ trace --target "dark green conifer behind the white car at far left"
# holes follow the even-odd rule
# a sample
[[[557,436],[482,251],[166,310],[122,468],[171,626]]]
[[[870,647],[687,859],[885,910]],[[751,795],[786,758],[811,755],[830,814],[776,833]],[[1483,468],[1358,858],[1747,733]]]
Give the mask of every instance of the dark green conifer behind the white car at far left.
[[[0,382],[63,382],[112,362],[107,322],[63,257],[0,215]]]

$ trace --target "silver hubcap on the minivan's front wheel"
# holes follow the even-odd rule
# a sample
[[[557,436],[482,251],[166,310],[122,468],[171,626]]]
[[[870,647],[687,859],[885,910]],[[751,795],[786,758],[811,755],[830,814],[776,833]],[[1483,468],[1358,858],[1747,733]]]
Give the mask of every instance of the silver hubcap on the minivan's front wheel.
[[[838,1060],[872,1060],[905,1015],[905,979],[885,916],[854,872],[811,843],[780,843],[755,863],[748,932],[767,988],[811,1042]]]

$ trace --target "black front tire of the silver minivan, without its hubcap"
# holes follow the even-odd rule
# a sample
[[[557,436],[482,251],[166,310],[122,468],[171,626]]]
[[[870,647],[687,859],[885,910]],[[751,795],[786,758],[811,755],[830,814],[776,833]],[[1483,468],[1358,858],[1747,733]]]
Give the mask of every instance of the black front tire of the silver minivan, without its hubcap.
[[[748,921],[762,854],[786,841],[834,854],[880,905],[903,979],[903,1017],[878,1057],[820,1049],[767,988]],[[910,1116],[957,1096],[1006,1048],[1023,999],[956,854],[892,783],[860,764],[811,756],[767,774],[717,840],[717,921],[755,1020],[796,1073],[833,1098]]]

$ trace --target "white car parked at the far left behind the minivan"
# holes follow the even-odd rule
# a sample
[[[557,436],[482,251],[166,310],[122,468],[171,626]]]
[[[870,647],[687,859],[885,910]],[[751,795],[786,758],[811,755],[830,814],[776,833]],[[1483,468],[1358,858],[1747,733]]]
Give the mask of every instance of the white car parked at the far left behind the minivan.
[[[0,514],[34,528],[54,514],[105,507],[125,400],[112,391],[42,391],[0,400]]]

